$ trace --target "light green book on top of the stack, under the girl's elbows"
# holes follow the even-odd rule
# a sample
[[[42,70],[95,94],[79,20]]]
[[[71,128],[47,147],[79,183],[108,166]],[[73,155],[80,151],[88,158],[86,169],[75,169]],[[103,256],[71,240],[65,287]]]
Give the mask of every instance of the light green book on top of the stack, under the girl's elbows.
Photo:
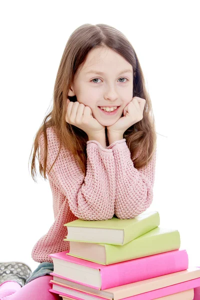
[[[159,221],[157,211],[145,211],[132,219],[117,217],[101,221],[77,219],[64,224],[67,227],[67,235],[63,240],[124,245],[159,226]]]

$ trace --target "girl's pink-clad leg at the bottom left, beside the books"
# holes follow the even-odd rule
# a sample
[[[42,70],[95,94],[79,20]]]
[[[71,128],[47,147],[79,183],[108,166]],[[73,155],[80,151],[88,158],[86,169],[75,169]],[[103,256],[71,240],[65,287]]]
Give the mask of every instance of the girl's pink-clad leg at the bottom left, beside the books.
[[[52,283],[49,283],[53,279],[51,275],[44,275],[33,279],[27,284],[23,285],[19,290],[13,294],[1,299],[5,300],[62,300],[58,294],[48,291],[52,288]]]

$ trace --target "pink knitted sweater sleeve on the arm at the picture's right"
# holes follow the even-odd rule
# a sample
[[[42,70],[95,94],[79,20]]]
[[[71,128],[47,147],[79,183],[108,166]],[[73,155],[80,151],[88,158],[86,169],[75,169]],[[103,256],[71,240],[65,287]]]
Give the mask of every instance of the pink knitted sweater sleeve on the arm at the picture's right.
[[[152,202],[156,149],[148,165],[137,170],[125,138],[114,141],[106,148],[112,148],[115,162],[115,215],[123,219],[133,218],[145,211]]]

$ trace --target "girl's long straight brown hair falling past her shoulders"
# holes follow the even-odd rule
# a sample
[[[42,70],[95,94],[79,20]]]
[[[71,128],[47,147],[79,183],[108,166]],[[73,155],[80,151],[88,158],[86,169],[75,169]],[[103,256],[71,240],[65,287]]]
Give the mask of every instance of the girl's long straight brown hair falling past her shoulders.
[[[144,167],[152,158],[156,148],[154,116],[150,96],[145,87],[144,76],[137,55],[130,42],[119,30],[106,24],[92,25],[86,23],[72,32],[64,48],[54,84],[53,107],[44,117],[41,126],[35,134],[32,145],[32,148],[34,147],[31,160],[31,175],[33,180],[35,180],[34,174],[36,174],[35,156],[38,158],[39,154],[38,138],[42,132],[45,140],[44,165],[42,166],[39,162],[39,173],[46,179],[46,128],[50,126],[54,127],[60,141],[60,146],[62,145],[71,151],[81,170],[86,174],[86,141],[88,137],[83,130],[65,121],[66,99],[68,97],[70,101],[77,101],[76,96],[68,96],[70,85],[73,82],[78,67],[84,63],[88,52],[96,47],[110,48],[132,65],[134,74],[132,97],[138,96],[144,98],[146,103],[143,110],[143,118],[130,126],[123,133],[123,138],[126,139],[135,168],[140,169]],[[108,145],[107,135],[106,145]],[[139,153],[137,157],[135,156],[136,153]]]

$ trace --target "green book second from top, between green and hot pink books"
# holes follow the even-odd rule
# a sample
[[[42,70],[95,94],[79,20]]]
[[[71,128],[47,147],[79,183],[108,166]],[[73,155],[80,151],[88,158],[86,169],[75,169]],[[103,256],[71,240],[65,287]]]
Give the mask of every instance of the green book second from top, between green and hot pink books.
[[[66,255],[108,265],[177,250],[180,247],[180,235],[177,230],[156,227],[125,245],[79,241],[70,241],[69,244],[70,250]]]

